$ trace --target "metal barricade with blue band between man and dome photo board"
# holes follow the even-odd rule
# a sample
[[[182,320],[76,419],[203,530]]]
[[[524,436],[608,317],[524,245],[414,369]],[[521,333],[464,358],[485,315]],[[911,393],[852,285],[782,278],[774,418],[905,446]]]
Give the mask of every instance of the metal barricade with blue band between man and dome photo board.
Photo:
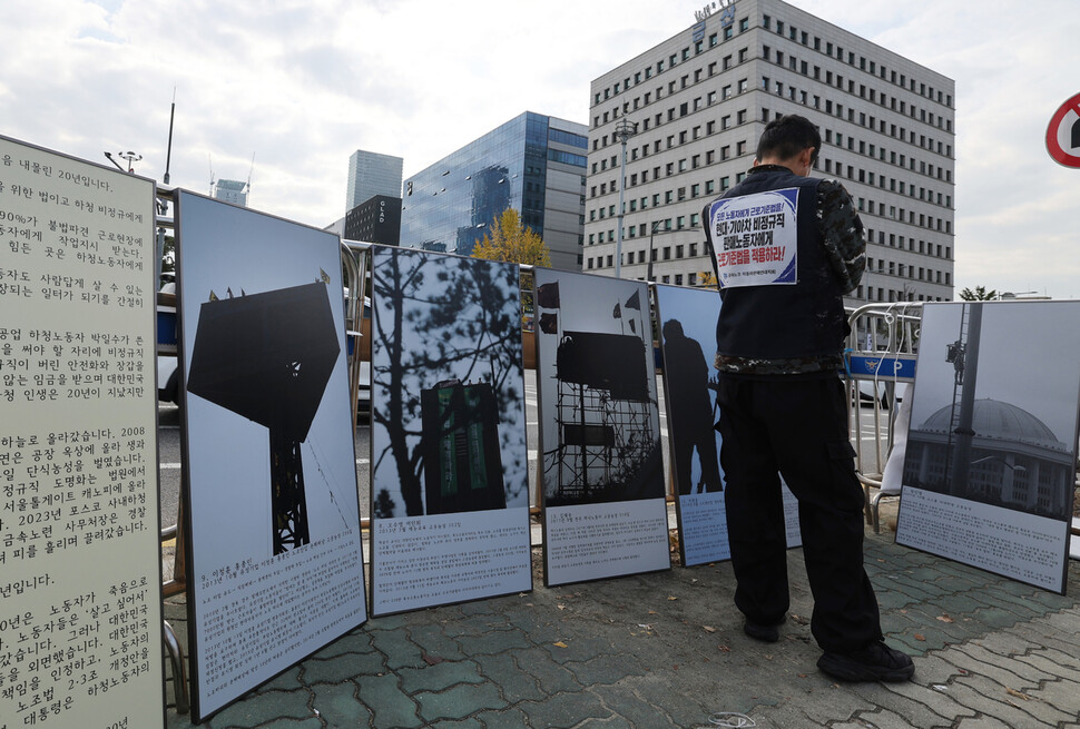
[[[882,479],[895,445],[897,396],[910,395],[909,385],[915,381],[922,303],[867,304],[847,321],[852,328],[845,352],[850,436],[866,494],[866,521],[878,532],[881,499],[900,495],[883,491]]]

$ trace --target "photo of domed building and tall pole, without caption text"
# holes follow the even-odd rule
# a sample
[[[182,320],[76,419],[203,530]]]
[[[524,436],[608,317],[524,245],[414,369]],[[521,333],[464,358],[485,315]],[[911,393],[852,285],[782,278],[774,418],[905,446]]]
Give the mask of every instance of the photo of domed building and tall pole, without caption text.
[[[1077,302],[927,305],[904,486],[1068,521],[1078,315]]]

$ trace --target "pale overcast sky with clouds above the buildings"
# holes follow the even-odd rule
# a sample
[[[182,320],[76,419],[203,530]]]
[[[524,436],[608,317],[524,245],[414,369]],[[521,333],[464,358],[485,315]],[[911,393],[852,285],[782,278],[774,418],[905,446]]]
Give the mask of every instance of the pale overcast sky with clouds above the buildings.
[[[324,226],[348,156],[423,169],[524,110],[586,124],[589,83],[694,23],[704,0],[3,0],[0,134],[92,161],[143,155],[206,193]],[[1080,91],[1076,0],[793,0],[956,81],[962,287],[1080,297],[1080,170],[1044,136]]]

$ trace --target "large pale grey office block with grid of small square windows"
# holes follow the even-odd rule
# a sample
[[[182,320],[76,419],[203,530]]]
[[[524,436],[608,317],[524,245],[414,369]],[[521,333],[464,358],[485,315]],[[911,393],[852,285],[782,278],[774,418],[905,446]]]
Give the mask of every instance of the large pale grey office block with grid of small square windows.
[[[714,4],[592,82],[585,269],[615,274],[621,124],[637,131],[621,275],[651,259],[656,280],[694,286],[713,270],[704,206],[743,179],[766,121],[798,114],[822,134],[815,175],[844,184],[867,230],[846,303],[951,301],[954,82],[782,0]]]

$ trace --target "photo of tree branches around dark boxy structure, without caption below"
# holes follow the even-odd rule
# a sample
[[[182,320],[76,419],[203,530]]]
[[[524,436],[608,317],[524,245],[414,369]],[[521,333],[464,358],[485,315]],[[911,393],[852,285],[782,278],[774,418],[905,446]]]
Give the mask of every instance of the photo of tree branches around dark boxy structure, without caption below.
[[[375,519],[528,506],[518,266],[372,252]]]

